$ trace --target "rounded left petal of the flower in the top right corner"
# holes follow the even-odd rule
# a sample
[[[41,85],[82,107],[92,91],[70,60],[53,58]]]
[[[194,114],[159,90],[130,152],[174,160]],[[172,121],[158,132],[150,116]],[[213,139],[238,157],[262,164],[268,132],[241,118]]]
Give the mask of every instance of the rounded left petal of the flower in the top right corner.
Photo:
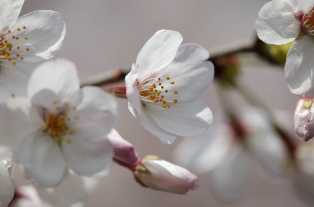
[[[268,44],[292,42],[300,34],[300,21],[285,8],[282,0],[265,3],[258,15],[255,23],[257,35]]]

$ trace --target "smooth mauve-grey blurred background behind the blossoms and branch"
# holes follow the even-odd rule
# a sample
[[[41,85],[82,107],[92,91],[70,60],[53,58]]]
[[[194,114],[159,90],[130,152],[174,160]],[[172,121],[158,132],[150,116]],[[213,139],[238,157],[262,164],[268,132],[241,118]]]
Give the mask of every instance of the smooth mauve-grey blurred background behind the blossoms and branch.
[[[160,29],[179,31],[183,43],[200,44],[209,52],[215,46],[250,39],[255,35],[255,21],[264,3],[266,0],[25,0],[21,15],[49,9],[62,14],[67,34],[55,58],[64,57],[75,62],[83,81],[111,68],[133,63],[144,43]],[[270,109],[287,110],[292,117],[299,97],[290,93],[282,67],[244,66],[240,81]],[[237,93],[231,93],[231,98],[239,107],[247,105]],[[201,100],[213,111],[214,122],[219,120],[222,108],[214,84]],[[134,144],[139,157],[153,154],[173,162],[171,153],[181,138],[172,145],[162,144],[141,129],[129,113],[126,99],[117,101],[116,129]],[[133,180],[131,172],[113,164],[111,173],[101,180],[86,206],[306,206],[294,192],[290,179],[274,177],[258,163],[254,167],[255,181],[248,196],[238,203],[226,204],[212,194],[208,175],[199,177],[201,186],[197,190],[175,195],[143,188]],[[17,184],[22,183],[25,183],[23,178],[17,179]]]

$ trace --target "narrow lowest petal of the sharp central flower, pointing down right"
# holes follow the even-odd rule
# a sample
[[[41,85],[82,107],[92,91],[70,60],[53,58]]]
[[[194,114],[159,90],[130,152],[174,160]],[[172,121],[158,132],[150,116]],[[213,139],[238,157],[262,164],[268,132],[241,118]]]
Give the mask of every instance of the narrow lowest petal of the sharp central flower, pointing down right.
[[[150,135],[153,135],[164,144],[171,144],[175,141],[176,135],[171,134],[165,130],[163,130],[154,119],[150,116],[147,109],[142,107],[142,114],[141,116],[138,115],[137,111],[128,103],[127,107],[129,108],[130,112],[133,114],[135,118],[139,120],[143,129]]]

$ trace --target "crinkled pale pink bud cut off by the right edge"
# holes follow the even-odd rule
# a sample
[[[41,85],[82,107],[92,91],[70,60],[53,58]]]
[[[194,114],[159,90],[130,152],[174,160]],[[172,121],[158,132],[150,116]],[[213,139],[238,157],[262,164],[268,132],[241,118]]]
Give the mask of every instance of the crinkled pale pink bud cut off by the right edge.
[[[297,135],[304,141],[314,136],[313,98],[302,97],[295,105],[294,127]]]

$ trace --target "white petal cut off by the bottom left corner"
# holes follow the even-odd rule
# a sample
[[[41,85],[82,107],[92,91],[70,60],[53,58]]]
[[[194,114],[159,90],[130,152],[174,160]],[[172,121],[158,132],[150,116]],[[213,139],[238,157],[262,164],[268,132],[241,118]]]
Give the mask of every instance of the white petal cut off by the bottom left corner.
[[[14,195],[14,183],[5,167],[4,163],[0,160],[0,206],[7,206]]]

